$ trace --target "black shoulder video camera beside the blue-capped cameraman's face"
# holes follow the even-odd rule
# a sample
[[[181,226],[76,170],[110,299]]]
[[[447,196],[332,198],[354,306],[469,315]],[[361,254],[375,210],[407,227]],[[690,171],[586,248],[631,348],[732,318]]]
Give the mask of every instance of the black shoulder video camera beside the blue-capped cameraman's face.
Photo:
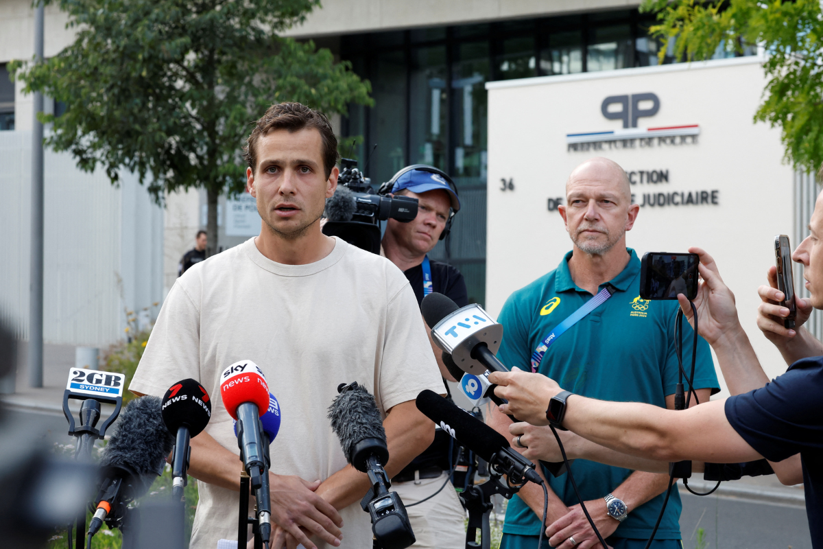
[[[339,236],[372,254],[380,253],[380,221],[389,218],[408,223],[417,216],[417,199],[390,197],[374,192],[370,178],[357,169],[357,161],[343,158],[337,191],[326,200],[323,234]]]

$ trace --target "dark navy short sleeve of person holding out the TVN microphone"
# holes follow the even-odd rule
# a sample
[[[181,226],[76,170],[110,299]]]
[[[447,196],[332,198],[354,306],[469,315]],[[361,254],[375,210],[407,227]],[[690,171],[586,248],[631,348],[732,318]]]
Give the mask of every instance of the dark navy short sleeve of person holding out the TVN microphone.
[[[823,356],[795,362],[765,387],[726,400],[726,418],[758,454],[782,461],[823,449]]]

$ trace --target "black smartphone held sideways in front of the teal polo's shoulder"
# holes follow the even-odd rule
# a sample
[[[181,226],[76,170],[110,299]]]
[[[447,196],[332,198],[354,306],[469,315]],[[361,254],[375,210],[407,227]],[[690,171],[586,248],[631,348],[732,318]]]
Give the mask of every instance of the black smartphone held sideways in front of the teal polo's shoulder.
[[[649,252],[640,260],[640,297],[644,300],[690,300],[697,297],[697,254]]]

